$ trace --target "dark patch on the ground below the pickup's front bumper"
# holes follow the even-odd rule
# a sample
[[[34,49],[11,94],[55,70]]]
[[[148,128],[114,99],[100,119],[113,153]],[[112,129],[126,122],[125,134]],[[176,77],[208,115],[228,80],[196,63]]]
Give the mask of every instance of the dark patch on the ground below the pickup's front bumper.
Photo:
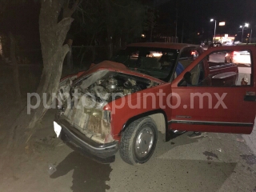
[[[50,175],[50,178],[58,178],[74,170],[73,186],[70,187],[74,192],[101,192],[110,189],[110,186],[106,185],[106,181],[110,181],[112,171],[110,165],[99,164],[77,152],[71,152],[56,169],[57,171]]]

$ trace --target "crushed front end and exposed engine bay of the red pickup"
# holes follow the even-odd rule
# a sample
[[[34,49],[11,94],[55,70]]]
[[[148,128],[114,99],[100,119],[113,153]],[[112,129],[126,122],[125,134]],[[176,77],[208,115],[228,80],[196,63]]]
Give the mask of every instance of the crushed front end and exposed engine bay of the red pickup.
[[[62,116],[82,134],[96,142],[113,141],[110,111],[102,110],[108,102],[145,90],[158,83],[130,74],[99,70],[89,76],[67,78],[60,83]]]

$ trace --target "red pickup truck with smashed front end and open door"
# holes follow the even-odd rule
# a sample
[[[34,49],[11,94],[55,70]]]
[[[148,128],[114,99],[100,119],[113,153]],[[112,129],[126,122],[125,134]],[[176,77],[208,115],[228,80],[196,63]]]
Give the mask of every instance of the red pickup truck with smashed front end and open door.
[[[226,63],[250,53],[250,66]],[[54,130],[99,162],[119,150],[131,165],[147,162],[158,134],[184,131],[250,134],[256,109],[255,46],[135,43],[90,70],[62,79]]]

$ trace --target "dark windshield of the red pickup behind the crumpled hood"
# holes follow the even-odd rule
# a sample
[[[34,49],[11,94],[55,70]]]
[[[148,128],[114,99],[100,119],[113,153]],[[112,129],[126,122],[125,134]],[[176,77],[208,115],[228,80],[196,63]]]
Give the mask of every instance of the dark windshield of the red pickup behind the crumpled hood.
[[[111,60],[123,63],[130,70],[167,81],[166,78],[173,70],[177,56],[178,50],[128,46]]]

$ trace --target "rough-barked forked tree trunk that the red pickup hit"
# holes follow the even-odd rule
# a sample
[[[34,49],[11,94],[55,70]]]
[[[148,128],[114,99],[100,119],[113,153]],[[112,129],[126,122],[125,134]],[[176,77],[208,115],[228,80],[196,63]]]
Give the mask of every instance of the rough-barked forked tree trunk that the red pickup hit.
[[[39,32],[40,42],[42,46],[43,70],[42,77],[38,86],[37,93],[40,96],[41,102],[34,111],[33,118],[30,121],[29,128],[34,127],[35,122],[40,120],[46,113],[47,109],[43,106],[42,99],[46,95],[46,104],[50,106],[53,94],[58,90],[58,83],[62,75],[62,64],[70,47],[63,43],[66,39],[66,34],[70,30],[73,18],[63,18],[58,21],[60,12],[61,0],[53,10],[53,15],[49,16],[50,2],[42,1],[42,9],[39,15]],[[54,19],[55,18],[55,21]],[[53,22],[54,21],[54,22]]]

